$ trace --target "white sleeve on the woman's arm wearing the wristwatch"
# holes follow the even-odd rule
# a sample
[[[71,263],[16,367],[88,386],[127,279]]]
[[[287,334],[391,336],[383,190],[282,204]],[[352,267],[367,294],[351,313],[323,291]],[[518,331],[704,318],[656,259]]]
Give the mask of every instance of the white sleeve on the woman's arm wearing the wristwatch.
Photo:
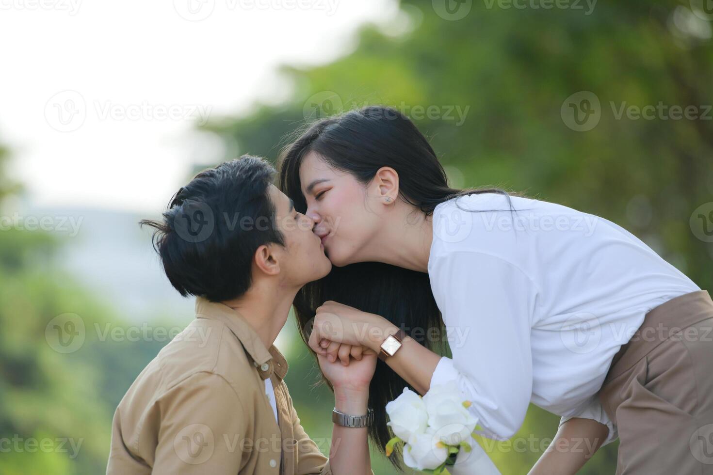
[[[453,359],[438,362],[431,386],[456,380],[490,439],[520,429],[532,395],[530,328],[537,289],[509,261],[476,251],[431,256],[431,286]]]

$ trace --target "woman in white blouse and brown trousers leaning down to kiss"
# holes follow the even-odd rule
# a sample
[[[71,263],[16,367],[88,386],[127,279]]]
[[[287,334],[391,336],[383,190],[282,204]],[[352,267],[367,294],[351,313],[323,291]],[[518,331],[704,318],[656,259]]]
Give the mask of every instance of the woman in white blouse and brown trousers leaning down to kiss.
[[[713,432],[713,301],[621,226],[451,188],[414,123],[381,106],[309,125],[282,152],[279,187],[334,265],[294,300],[305,342],[344,365],[383,358],[378,447],[404,387],[455,380],[484,437],[512,437],[532,402],[562,417],[550,447],[589,442],[545,451],[533,474],[575,473],[617,437],[617,474],[713,473],[709,434],[695,437]]]

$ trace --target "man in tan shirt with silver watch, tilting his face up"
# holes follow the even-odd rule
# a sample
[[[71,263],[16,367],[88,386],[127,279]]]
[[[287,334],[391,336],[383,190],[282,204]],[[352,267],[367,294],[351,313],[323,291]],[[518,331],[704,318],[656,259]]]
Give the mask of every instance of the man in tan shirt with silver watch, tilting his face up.
[[[198,174],[153,226],[196,318],[138,375],[113,418],[107,474],[369,474],[376,353],[319,357],[334,389],[329,459],[292,405],[273,345],[297,291],[332,268],[314,222],[245,156]],[[354,355],[352,355],[354,356]],[[352,417],[349,417],[352,416]]]

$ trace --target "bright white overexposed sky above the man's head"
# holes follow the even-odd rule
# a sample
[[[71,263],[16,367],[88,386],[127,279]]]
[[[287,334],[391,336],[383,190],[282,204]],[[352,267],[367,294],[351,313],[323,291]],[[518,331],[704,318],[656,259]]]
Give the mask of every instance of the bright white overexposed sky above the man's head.
[[[0,0],[0,142],[39,207],[163,209],[220,145],[207,116],[277,102],[395,0]]]

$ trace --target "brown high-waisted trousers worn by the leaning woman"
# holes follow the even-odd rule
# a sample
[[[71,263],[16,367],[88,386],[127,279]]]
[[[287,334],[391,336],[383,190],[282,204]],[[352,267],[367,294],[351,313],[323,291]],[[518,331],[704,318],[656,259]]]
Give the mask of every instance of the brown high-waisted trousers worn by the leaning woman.
[[[713,301],[707,291],[650,310],[599,391],[619,431],[617,475],[713,475]]]

